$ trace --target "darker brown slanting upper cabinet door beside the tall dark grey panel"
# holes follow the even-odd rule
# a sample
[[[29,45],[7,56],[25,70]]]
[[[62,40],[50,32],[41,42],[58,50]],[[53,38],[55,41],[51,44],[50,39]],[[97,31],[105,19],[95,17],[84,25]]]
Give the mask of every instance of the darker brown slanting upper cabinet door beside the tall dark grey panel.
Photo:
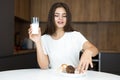
[[[30,20],[30,0],[14,0],[15,16],[21,19]]]

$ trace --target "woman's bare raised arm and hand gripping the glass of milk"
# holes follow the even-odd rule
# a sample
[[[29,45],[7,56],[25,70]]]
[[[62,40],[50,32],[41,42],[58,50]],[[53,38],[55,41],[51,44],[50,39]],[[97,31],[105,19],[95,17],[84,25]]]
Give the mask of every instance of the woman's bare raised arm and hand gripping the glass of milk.
[[[36,52],[37,52],[37,61],[41,69],[48,68],[49,59],[48,56],[44,54],[42,44],[41,44],[41,30],[39,28],[39,34],[32,34],[31,27],[28,29],[29,38],[35,43],[36,45]]]

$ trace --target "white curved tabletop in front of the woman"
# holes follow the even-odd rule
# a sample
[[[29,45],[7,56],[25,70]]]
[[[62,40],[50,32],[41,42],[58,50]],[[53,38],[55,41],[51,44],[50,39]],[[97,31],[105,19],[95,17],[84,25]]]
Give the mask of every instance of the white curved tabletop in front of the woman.
[[[19,69],[0,72],[0,80],[120,80],[119,75],[87,71],[80,77],[66,76],[54,70]]]

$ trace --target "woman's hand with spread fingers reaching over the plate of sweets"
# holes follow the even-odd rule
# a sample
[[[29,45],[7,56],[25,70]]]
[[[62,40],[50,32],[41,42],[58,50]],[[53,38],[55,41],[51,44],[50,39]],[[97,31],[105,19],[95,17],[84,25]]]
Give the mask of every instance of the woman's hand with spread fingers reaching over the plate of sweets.
[[[80,63],[77,67],[77,71],[79,73],[84,73],[85,71],[88,70],[88,67],[92,67],[93,68],[93,63],[92,63],[92,52],[90,50],[85,50],[83,52],[83,54],[81,55],[80,58]]]

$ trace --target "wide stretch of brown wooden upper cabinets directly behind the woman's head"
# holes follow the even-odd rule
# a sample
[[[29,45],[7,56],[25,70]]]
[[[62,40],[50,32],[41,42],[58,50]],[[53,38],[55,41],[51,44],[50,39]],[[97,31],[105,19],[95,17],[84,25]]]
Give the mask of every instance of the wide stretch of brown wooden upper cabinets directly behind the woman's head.
[[[57,0],[31,0],[31,16],[38,16],[41,21],[46,22],[48,11]],[[65,2],[72,13],[72,21],[98,21],[99,0],[61,0]]]

